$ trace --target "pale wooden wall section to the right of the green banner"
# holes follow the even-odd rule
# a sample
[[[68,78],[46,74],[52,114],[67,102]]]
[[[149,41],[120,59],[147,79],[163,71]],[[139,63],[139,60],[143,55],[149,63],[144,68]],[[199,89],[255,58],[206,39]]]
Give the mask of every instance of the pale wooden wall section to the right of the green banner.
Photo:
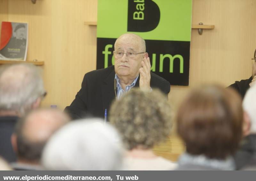
[[[171,86],[173,109],[191,87],[228,86],[251,75],[256,48],[256,0],[193,0],[192,23],[215,25],[199,35],[191,32],[189,86]]]

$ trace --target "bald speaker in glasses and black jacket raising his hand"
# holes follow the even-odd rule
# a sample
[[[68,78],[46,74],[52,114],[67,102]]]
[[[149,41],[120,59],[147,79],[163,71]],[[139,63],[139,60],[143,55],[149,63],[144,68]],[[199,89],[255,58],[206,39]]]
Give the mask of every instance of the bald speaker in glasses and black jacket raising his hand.
[[[115,96],[117,99],[121,98],[132,87],[145,90],[156,87],[164,94],[170,92],[170,83],[150,72],[151,65],[145,41],[140,36],[121,35],[115,42],[113,53],[114,66],[84,75],[82,88],[71,105],[65,109],[72,118],[88,115],[103,117]]]

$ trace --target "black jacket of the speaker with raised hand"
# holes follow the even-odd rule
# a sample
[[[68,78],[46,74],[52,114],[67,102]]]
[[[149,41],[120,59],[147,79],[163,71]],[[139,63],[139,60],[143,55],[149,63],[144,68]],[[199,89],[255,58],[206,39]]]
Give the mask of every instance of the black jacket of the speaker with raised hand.
[[[160,76],[151,73],[151,88],[159,88],[164,94],[170,92],[170,83]],[[76,94],[75,100],[65,108],[72,119],[83,117],[104,117],[105,109],[109,110],[111,102],[115,99],[114,65],[105,69],[88,72],[84,75],[82,87]],[[139,87],[140,76],[135,84]]]

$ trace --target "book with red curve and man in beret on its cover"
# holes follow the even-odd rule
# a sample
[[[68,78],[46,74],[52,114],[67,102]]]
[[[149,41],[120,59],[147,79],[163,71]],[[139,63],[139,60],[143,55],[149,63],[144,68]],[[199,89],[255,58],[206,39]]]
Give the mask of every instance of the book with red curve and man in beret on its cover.
[[[28,50],[28,24],[2,22],[0,60],[26,61]]]

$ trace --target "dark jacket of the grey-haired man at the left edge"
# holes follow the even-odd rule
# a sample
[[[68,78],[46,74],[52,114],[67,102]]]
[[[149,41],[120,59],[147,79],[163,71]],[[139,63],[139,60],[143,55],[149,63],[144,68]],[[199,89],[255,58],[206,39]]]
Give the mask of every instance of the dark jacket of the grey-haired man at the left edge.
[[[0,117],[0,155],[8,162],[15,162],[11,136],[18,117]]]

